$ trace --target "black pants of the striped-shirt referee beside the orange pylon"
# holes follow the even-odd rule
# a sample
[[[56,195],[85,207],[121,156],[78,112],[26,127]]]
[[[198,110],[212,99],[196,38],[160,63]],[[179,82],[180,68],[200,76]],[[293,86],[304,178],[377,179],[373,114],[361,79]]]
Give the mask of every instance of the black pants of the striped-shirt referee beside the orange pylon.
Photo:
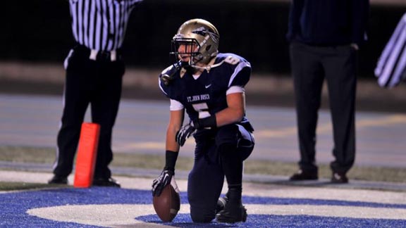
[[[121,99],[125,66],[120,56],[97,56],[91,60],[90,50],[76,46],[67,58],[63,115],[57,138],[58,151],[54,175],[67,177],[73,170],[73,159],[80,137],[80,127],[87,106],[91,106],[92,122],[100,125],[99,146],[94,178],[109,178],[113,160],[111,134]]]

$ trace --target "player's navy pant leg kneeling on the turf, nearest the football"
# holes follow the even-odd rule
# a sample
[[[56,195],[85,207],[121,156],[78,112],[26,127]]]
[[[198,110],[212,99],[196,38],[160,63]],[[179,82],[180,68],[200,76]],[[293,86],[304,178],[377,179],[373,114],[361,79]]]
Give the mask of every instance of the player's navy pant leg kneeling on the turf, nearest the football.
[[[187,198],[193,222],[211,222],[223,189],[224,174],[214,141],[198,141],[195,164],[187,179]]]

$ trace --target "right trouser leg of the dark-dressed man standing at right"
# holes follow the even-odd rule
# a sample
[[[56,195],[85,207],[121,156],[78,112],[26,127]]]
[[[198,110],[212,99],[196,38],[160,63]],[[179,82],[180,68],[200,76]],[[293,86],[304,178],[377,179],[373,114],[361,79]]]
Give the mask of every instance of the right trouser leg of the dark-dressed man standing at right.
[[[333,120],[335,160],[331,169],[347,172],[355,161],[355,96],[357,51],[348,46],[333,47],[323,63]]]

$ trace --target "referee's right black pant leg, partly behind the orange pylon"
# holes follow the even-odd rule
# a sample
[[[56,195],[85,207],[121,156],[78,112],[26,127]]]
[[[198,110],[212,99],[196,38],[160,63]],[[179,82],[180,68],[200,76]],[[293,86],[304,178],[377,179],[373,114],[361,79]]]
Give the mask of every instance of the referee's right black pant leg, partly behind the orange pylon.
[[[97,63],[98,74],[94,79],[92,94],[92,121],[100,125],[99,146],[94,168],[94,178],[109,178],[109,164],[113,160],[111,137],[121,99],[123,61]]]

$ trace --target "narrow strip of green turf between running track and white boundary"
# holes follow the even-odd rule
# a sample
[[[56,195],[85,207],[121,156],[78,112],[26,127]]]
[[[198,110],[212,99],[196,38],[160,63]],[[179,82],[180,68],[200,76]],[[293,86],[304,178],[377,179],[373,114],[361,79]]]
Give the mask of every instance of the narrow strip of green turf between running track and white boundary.
[[[162,156],[115,153],[112,167],[133,167],[161,170],[164,165]],[[16,163],[54,163],[54,148],[32,148],[16,146],[0,146],[0,160]],[[190,170],[193,158],[180,156],[176,163],[177,170]],[[319,177],[330,178],[328,164],[320,164]],[[245,162],[246,174],[289,176],[297,170],[295,163],[248,159]],[[136,174],[135,174],[136,175]],[[406,182],[406,168],[403,167],[367,167],[355,166],[348,173],[350,179],[376,182]]]

